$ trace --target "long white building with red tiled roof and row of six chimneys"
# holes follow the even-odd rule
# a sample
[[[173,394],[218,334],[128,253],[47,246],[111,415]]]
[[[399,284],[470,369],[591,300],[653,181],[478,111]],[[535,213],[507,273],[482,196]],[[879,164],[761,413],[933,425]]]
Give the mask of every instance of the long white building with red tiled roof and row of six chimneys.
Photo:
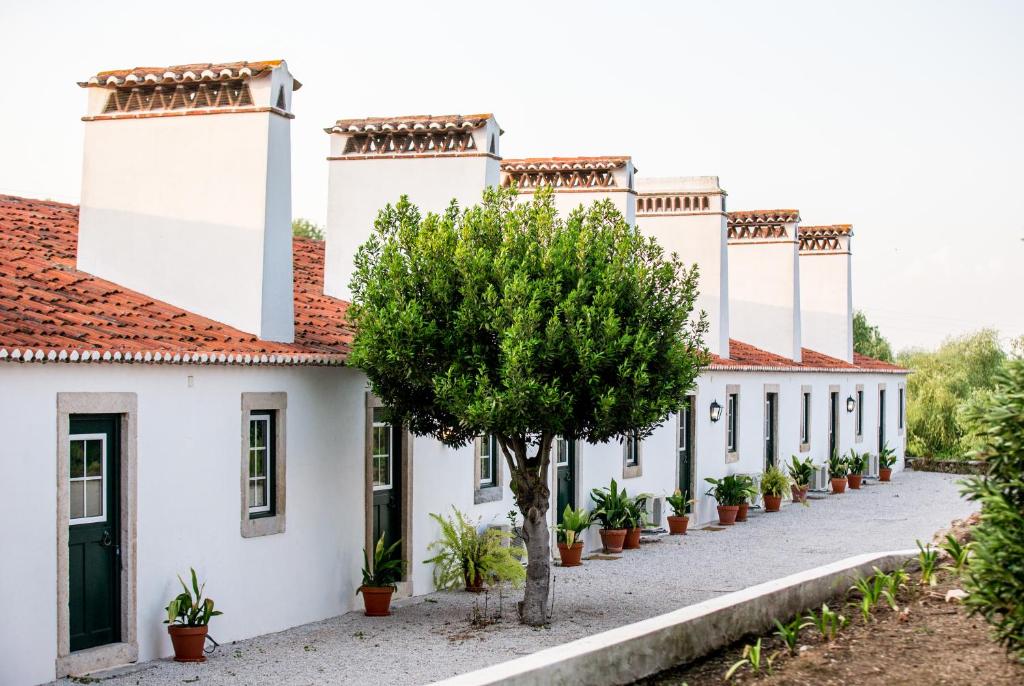
[[[169,654],[163,608],[189,566],[225,611],[223,642],[353,609],[377,531],[403,541],[400,592],[423,594],[429,513],[504,523],[512,498],[489,441],[453,451],[388,427],[345,366],[351,256],[401,194],[439,210],[487,185],[551,183],[560,209],[610,198],[700,264],[714,363],[635,448],[562,445],[563,502],[589,506],[612,477],[699,496],[707,476],[791,454],[821,463],[830,442],[877,454],[886,440],[902,457],[905,372],[852,353],[848,226],[727,214],[714,177],[638,186],[629,158],[502,163],[484,114],[339,121],[326,246],[293,241],[300,84],[284,61],[83,86],[81,207],[0,197],[0,466],[20,522],[0,533],[19,618],[0,683]],[[694,523],[713,517],[699,497]]]

